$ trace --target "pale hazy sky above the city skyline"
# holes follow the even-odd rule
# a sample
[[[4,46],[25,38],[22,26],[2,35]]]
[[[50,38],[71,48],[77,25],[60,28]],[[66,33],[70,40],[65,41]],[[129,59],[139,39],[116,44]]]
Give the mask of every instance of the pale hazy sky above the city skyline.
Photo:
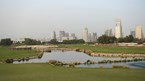
[[[124,34],[145,31],[145,0],[0,0],[1,38],[48,38],[52,31],[104,33],[121,19]]]

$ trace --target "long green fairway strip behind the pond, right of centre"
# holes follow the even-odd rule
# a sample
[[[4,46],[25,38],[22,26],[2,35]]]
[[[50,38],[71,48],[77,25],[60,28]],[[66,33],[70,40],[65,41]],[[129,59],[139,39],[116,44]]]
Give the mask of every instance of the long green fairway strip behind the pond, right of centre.
[[[59,47],[81,48],[97,53],[145,54],[145,47],[92,46],[82,44],[60,44]]]

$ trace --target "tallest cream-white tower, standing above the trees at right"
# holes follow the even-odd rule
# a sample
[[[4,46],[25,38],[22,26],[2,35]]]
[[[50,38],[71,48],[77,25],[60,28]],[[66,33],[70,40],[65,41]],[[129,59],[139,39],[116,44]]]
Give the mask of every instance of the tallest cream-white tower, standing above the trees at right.
[[[115,37],[116,38],[122,38],[122,25],[121,25],[121,20],[120,19],[116,20]]]

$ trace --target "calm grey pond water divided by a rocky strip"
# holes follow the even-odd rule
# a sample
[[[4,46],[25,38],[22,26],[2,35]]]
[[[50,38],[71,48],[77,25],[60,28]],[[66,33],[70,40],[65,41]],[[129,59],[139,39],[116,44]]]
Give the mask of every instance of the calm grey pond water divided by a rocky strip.
[[[41,59],[30,59],[29,61],[15,61],[14,64],[19,63],[46,63],[49,62],[49,60],[57,60],[63,63],[73,63],[73,62],[86,62],[87,60],[91,61],[103,61],[103,60],[124,60],[125,58],[120,57],[93,57],[89,56],[83,52],[76,52],[76,51],[60,51],[60,50],[52,50],[52,52],[44,52]],[[127,58],[127,59],[132,59]],[[137,62],[121,62],[121,63],[107,63],[107,64],[90,64],[90,65],[76,65],[76,67],[89,67],[89,68],[112,68],[114,65],[121,65],[121,66],[127,66],[129,68],[145,68],[145,61],[137,61]]]

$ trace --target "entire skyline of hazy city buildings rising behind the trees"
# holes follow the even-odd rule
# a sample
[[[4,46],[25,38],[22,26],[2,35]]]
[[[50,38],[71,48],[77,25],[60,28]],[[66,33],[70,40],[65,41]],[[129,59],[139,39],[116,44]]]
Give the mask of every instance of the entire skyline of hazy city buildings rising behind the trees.
[[[123,32],[122,32],[122,23],[120,19],[117,19],[115,22],[115,31],[112,33],[112,29],[107,29],[104,33],[106,36],[115,36],[116,38],[122,38]],[[140,25],[137,25],[135,30],[130,32],[130,35],[132,35],[134,38],[137,39],[144,39],[142,27]],[[63,40],[73,40],[77,39],[75,33],[67,33],[65,31],[59,31],[59,37],[56,37],[55,31],[51,34],[51,39],[57,39],[59,42],[62,42]],[[97,33],[89,33],[88,28],[84,28],[82,31],[82,39],[85,42],[96,42],[97,41]]]

